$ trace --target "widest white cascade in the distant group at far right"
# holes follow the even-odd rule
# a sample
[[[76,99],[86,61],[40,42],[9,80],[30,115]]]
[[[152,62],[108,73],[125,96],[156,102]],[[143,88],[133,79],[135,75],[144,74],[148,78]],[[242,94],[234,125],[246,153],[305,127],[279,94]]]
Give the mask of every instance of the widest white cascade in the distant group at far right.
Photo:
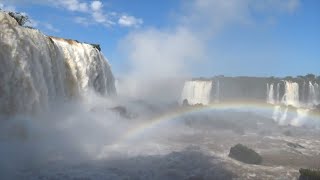
[[[299,84],[296,82],[285,81],[285,94],[282,98],[282,103],[299,107]]]

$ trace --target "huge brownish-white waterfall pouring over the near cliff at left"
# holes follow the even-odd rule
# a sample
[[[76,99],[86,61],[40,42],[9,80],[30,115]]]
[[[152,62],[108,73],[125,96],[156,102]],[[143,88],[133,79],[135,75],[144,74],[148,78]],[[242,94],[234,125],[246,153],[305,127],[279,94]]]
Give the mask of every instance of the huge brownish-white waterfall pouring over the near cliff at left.
[[[0,13],[0,114],[34,113],[93,90],[115,93],[103,55],[89,44],[48,37]]]

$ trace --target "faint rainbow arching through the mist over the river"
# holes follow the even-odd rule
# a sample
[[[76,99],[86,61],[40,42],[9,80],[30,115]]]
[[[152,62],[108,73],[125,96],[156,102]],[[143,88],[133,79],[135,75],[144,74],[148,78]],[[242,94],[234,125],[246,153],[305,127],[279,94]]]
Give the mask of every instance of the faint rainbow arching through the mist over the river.
[[[174,111],[170,111],[166,114],[153,117],[144,123],[139,124],[131,129],[129,129],[121,138],[120,141],[130,141],[134,138],[139,137],[147,131],[150,131],[160,125],[179,120],[179,117],[183,115],[189,115],[193,113],[209,112],[214,110],[237,110],[242,112],[273,112],[275,105],[267,104],[265,102],[254,102],[254,101],[232,101],[224,103],[215,103],[206,106],[192,106],[178,108]],[[289,113],[295,113],[296,108],[288,108]],[[310,112],[308,117],[320,119],[320,113]]]

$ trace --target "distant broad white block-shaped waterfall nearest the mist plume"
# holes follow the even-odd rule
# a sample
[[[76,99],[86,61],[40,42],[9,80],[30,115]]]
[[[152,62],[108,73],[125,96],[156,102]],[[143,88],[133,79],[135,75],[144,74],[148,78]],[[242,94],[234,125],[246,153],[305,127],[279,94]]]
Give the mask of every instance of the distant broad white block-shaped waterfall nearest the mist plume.
[[[186,99],[190,105],[210,103],[212,81],[186,81],[181,94],[181,103]]]

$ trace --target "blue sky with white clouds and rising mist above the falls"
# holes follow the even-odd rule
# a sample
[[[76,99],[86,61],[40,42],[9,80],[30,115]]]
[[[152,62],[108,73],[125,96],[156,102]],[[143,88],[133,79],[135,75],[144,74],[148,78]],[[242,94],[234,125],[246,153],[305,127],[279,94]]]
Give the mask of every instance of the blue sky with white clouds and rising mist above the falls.
[[[101,44],[116,76],[320,74],[318,0],[0,0],[47,35]]]

